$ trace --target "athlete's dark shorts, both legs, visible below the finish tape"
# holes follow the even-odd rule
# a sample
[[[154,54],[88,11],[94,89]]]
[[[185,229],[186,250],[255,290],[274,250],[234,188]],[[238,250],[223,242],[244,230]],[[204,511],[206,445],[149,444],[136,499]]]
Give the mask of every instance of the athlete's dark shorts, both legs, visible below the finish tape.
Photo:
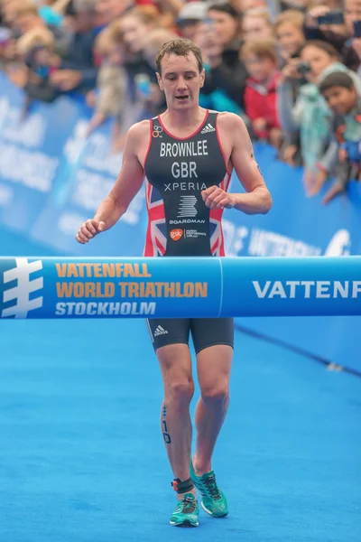
[[[215,344],[234,348],[233,318],[152,318],[146,322],[154,350],[166,344],[189,344],[190,333],[197,354]]]

